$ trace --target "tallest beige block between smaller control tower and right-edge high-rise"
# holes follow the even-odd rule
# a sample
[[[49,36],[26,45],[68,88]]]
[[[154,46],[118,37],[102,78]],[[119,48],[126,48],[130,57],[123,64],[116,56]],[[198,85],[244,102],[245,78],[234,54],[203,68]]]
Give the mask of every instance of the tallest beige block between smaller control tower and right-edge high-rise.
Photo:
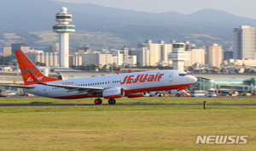
[[[220,67],[224,59],[224,50],[218,44],[212,44],[207,46],[206,64],[212,64],[213,66]]]

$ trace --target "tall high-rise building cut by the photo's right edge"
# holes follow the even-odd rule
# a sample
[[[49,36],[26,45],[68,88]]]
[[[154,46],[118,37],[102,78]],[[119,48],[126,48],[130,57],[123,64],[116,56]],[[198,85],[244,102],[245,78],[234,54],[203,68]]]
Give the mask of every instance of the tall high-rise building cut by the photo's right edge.
[[[254,27],[241,25],[235,28],[233,41],[235,59],[256,59]]]

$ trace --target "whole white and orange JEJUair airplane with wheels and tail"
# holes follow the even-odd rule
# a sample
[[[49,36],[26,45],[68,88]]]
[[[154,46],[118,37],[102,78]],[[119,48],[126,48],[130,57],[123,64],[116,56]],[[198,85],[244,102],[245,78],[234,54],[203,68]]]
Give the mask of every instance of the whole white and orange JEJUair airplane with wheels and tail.
[[[195,76],[179,70],[151,70],[60,80],[44,76],[21,50],[15,50],[15,56],[25,86],[9,87],[20,87],[24,92],[47,98],[96,98],[96,105],[102,104],[102,98],[108,99],[109,104],[115,104],[115,98],[144,97],[152,91],[178,92],[197,81]]]

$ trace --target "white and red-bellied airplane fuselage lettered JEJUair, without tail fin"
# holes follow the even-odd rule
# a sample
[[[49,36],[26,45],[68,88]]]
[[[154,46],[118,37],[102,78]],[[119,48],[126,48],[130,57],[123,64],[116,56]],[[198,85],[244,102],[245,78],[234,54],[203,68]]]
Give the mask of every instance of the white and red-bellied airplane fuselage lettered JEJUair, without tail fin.
[[[147,76],[145,78],[145,76]],[[71,79],[64,81],[50,81],[48,83],[71,85],[78,87],[120,87],[125,94],[137,92],[151,92],[172,90],[188,87],[196,81],[194,76],[186,75],[178,70],[152,70],[144,72],[125,73],[109,76],[95,76],[82,79]],[[68,90],[63,87],[50,87],[40,84],[32,85],[34,88],[26,89],[26,92],[49,98],[90,98],[102,97],[102,92],[90,92],[79,90]]]

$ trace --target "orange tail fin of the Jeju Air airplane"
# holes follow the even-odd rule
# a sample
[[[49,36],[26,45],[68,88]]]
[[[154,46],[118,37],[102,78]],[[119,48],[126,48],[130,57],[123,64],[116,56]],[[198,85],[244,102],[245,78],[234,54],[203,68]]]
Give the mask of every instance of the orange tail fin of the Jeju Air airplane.
[[[32,63],[30,59],[26,57],[26,54],[21,50],[15,50],[16,59],[18,60],[18,64],[20,66],[20,72],[23,78],[25,85],[37,84],[33,81],[31,73],[38,78],[41,82],[47,81],[60,81],[59,79],[55,79],[52,77],[44,76],[40,70],[36,67],[35,64]],[[31,73],[30,73],[30,72]]]

